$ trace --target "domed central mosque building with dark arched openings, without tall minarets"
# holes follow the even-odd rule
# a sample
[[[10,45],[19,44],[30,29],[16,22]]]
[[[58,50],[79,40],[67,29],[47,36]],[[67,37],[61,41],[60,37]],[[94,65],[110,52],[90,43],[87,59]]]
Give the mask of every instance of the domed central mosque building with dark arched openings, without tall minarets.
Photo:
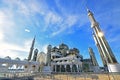
[[[92,48],[90,49],[92,50]],[[90,52],[90,54],[92,54],[90,59],[83,59],[83,56],[80,55],[80,51],[77,48],[69,49],[68,45],[61,43],[58,47],[52,47],[52,45],[48,45],[47,54],[41,52],[38,54],[37,60],[41,64],[44,63],[48,66],[51,66],[52,72],[95,72],[97,70],[93,68],[95,66],[99,68],[99,66],[95,59],[94,53]],[[41,60],[41,56],[42,58],[44,57],[43,60]]]

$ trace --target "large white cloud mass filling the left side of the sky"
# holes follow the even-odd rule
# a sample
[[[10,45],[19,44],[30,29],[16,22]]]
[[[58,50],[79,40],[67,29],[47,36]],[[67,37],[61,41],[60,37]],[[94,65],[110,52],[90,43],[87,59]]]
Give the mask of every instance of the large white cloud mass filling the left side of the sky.
[[[18,37],[18,32],[16,29],[22,28],[16,23],[16,12],[19,13],[17,16],[17,20],[19,20],[19,16],[23,15],[28,17],[31,15],[31,9],[22,1],[3,1],[5,5],[9,7],[0,8],[0,57],[4,58],[5,56],[10,56],[12,58],[20,57],[26,58],[28,56],[28,52],[30,50],[32,40],[27,40],[25,42],[21,42],[21,45],[18,43],[11,43],[5,40],[5,38],[12,39],[11,37]],[[30,5],[30,4],[29,4]],[[16,8],[16,10],[14,10]],[[37,8],[37,7],[36,7]],[[37,10],[37,9],[36,9]],[[16,11],[16,12],[15,12]],[[18,12],[20,11],[20,12]],[[32,12],[35,11],[35,7]],[[14,21],[15,20],[15,21]],[[25,20],[25,18],[24,18]],[[22,22],[22,21],[21,21]],[[24,21],[23,21],[24,22]],[[24,23],[21,25],[24,25]],[[29,29],[25,29],[26,32],[30,32]],[[16,35],[17,32],[17,35]],[[15,33],[15,34],[13,34]],[[8,36],[7,34],[11,35]],[[21,33],[20,33],[21,34]],[[18,39],[20,39],[19,37]],[[17,40],[17,39],[16,39]],[[23,45],[22,45],[23,44]]]

